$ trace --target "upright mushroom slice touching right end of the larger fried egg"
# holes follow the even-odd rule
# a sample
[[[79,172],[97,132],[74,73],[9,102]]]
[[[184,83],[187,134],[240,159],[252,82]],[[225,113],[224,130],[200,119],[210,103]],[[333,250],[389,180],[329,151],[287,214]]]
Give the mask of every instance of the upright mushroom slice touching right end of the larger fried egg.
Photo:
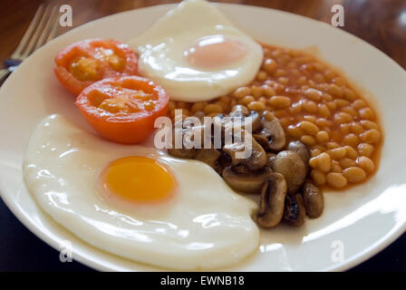
[[[256,221],[261,227],[275,227],[284,217],[286,182],[282,174],[271,173],[261,191]]]

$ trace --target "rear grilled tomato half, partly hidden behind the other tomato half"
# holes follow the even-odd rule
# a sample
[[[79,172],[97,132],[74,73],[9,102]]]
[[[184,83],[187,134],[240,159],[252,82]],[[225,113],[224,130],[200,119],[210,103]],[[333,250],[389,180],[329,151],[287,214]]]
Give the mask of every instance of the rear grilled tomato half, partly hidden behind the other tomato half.
[[[137,56],[130,46],[112,39],[73,43],[55,56],[55,63],[56,77],[74,95],[92,82],[137,73]]]

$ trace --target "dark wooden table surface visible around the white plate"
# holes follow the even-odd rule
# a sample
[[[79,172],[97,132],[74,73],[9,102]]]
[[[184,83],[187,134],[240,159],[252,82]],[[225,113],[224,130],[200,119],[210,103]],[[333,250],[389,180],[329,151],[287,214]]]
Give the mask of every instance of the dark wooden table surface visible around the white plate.
[[[94,19],[171,0],[0,0],[0,62],[20,42],[41,3],[73,7],[73,28]],[[406,0],[223,0],[218,2],[280,9],[330,23],[331,8],[344,7],[343,30],[381,49],[406,69]],[[59,28],[63,34],[69,28]],[[406,271],[406,235],[352,271]],[[0,199],[0,271],[87,271],[61,263],[59,253],[34,237]]]

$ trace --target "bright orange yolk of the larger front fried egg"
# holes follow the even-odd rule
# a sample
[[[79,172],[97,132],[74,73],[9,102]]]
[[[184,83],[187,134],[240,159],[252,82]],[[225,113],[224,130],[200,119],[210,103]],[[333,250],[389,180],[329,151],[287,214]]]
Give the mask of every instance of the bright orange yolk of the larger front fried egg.
[[[171,198],[176,180],[157,160],[131,156],[112,161],[102,172],[104,188],[116,196],[136,203]]]

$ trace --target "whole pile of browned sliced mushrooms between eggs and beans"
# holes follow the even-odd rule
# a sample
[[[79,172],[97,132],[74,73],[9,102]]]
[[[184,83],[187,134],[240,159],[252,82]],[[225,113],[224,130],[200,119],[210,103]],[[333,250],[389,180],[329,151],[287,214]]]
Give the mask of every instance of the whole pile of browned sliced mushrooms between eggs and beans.
[[[233,123],[236,117],[242,118],[239,124]],[[189,131],[191,136],[208,136],[208,140],[215,140],[214,133],[221,132],[220,148],[214,148],[213,143],[210,148],[204,147],[205,140],[201,138],[198,148],[188,148],[184,143],[181,148],[169,149],[169,154],[206,162],[231,189],[260,194],[256,213],[259,226],[275,227],[283,220],[299,227],[304,224],[306,213],[310,218],[322,215],[323,190],[309,180],[309,151],[299,140],[286,144],[285,132],[272,112],[248,111],[245,106],[236,105],[229,115],[218,115],[213,122],[189,127],[187,121],[183,127],[175,123],[173,131]],[[252,135],[246,130],[248,123]],[[230,127],[239,128],[241,140],[226,142]],[[247,142],[247,137],[252,140]],[[248,146],[250,156],[238,158],[237,153]]]

